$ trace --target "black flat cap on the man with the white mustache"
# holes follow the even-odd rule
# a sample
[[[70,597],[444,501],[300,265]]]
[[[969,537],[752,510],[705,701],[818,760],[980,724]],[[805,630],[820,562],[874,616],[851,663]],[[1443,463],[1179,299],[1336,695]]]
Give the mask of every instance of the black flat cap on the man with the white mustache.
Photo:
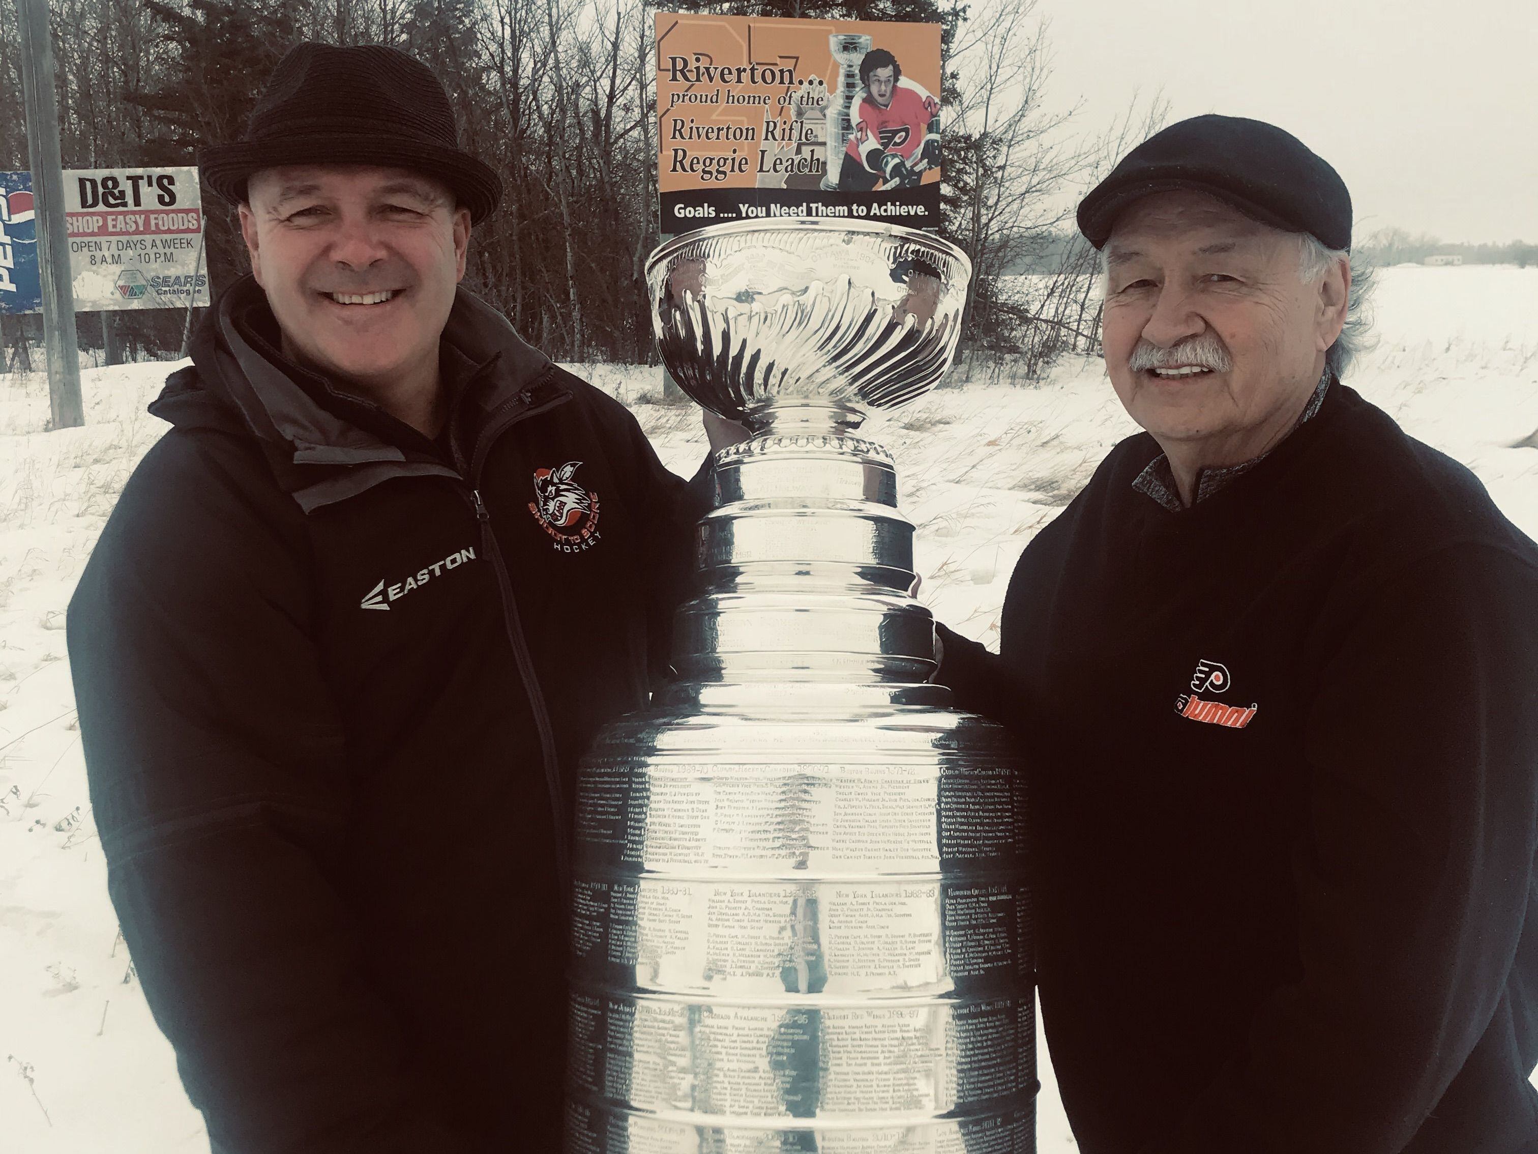
[[[1104,248],[1117,217],[1150,192],[1193,189],[1263,225],[1350,248],[1350,192],[1321,157],[1264,120],[1203,115],[1155,132],[1078,205],[1078,231]]]

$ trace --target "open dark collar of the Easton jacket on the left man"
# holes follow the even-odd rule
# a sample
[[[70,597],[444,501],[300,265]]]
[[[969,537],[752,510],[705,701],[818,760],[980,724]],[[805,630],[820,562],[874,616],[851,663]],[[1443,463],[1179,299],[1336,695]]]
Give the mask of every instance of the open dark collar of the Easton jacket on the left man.
[[[306,512],[391,477],[460,477],[421,451],[424,439],[381,408],[277,354],[254,331],[252,317],[271,320],[271,312],[261,288],[243,277],[198,326],[192,342],[195,380],[172,374],[151,412],[178,426],[221,425],[254,435],[278,485]],[[446,360],[460,366],[454,375],[463,374],[451,403],[451,437],[466,446],[464,460],[491,414],[520,403],[548,408],[571,397],[554,363],[463,288],[441,340]],[[221,420],[208,400],[223,402]],[[392,429],[403,432],[392,435]]]

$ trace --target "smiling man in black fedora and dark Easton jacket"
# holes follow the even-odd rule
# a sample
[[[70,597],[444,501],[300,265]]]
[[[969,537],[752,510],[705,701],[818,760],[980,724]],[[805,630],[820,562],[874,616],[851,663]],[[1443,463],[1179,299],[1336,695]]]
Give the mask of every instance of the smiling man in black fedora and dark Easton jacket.
[[[424,66],[300,45],[200,160],[252,275],[68,622],[123,936],[215,1151],[558,1149],[574,766],[703,502],[457,288],[500,182]]]

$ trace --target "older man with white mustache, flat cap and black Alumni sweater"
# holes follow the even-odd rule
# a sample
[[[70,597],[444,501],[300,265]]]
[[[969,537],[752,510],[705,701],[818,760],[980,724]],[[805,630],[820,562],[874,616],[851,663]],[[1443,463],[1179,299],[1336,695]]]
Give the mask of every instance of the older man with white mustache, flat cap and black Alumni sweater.
[[[1080,1148],[1538,1151],[1538,548],[1343,382],[1350,198],[1297,138],[1181,122],[1078,223],[1146,432],[938,680],[1030,755]]]

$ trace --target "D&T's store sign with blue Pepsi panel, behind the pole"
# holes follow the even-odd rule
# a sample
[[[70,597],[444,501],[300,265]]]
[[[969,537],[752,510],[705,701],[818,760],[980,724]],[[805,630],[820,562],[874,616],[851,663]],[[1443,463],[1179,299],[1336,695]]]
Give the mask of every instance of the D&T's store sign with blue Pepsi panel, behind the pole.
[[[0,172],[0,189],[25,188],[31,209],[29,172]],[[9,192],[15,208],[17,192]],[[14,211],[12,211],[14,215]],[[69,271],[77,312],[163,309],[209,303],[203,254],[203,202],[195,168],[65,169],[65,217],[69,229]],[[0,220],[15,235],[9,220]],[[32,229],[28,217],[26,229]],[[38,312],[35,229],[14,269],[20,288],[6,297],[0,280],[0,311]],[[0,246],[8,242],[0,242]],[[5,251],[0,248],[0,268]]]

